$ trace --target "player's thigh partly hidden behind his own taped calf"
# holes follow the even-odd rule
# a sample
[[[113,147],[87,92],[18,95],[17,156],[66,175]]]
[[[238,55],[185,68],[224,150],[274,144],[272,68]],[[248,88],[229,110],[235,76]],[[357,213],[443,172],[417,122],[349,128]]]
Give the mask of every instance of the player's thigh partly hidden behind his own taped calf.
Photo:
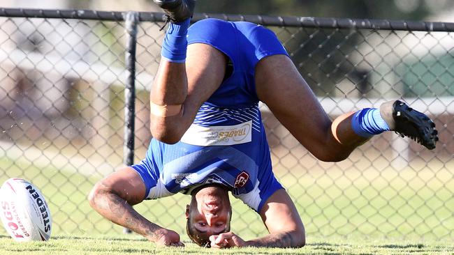
[[[186,75],[188,98],[197,111],[221,85],[226,73],[227,57],[212,45],[193,43],[188,45]],[[186,105],[185,105],[186,106]]]

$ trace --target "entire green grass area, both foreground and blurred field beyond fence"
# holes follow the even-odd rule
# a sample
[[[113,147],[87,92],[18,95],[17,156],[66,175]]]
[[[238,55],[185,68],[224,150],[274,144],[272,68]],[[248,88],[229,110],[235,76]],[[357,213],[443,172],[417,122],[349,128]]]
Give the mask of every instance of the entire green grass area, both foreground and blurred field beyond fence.
[[[15,243],[0,228],[0,254],[214,253],[192,244],[184,249],[156,248],[138,235],[122,235],[121,227],[103,219],[88,205],[87,194],[101,174],[87,174],[71,165],[57,169],[44,164],[45,167],[36,160],[0,157],[0,183],[10,177],[31,180],[50,204],[53,222],[49,242]],[[278,172],[305,222],[307,246],[230,249],[223,253],[454,254],[454,183],[452,173],[446,171],[450,166],[437,164],[427,164],[431,171],[418,169],[416,173],[414,166],[400,171],[381,169],[380,174],[374,167],[345,172],[337,164],[329,174],[314,169],[287,175]],[[232,230],[246,240],[264,235],[266,229],[256,212],[241,201],[232,200]],[[177,194],[160,201],[145,201],[135,208],[186,240],[182,215],[188,202],[189,196]]]

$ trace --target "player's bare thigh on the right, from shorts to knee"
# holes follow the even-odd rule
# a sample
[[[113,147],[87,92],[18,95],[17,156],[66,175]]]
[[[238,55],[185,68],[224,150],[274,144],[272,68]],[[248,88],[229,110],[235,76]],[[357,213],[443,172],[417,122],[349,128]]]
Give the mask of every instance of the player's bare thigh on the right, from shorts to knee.
[[[330,118],[288,56],[272,55],[258,62],[256,91],[274,116],[309,150],[323,147],[330,139]]]

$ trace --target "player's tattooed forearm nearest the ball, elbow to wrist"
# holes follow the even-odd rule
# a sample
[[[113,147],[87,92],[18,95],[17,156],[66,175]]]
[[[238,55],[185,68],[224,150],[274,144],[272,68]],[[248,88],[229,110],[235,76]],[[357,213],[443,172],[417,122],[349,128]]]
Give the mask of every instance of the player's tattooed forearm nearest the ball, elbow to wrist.
[[[156,241],[160,238],[159,230],[162,229],[161,226],[149,222],[148,219],[134,210],[126,200],[122,199],[119,194],[115,194],[105,185],[101,184],[94,201],[94,209],[111,222],[131,229],[145,236],[148,240]]]

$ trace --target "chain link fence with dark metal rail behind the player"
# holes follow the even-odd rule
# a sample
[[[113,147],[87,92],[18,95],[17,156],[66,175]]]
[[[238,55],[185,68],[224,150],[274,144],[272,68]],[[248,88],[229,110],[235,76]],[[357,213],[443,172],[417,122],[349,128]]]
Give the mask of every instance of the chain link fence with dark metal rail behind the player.
[[[437,124],[435,150],[387,132],[349,159],[326,163],[262,105],[274,173],[307,235],[454,239],[453,24],[242,15],[194,20],[208,16],[249,20],[277,33],[332,118],[403,98]],[[122,231],[89,207],[87,194],[103,176],[145,157],[151,139],[149,86],[159,65],[162,14],[131,17],[0,10],[0,182],[22,177],[40,187],[54,235]],[[184,233],[186,203],[189,196],[177,194],[136,209]],[[233,199],[233,209],[235,233],[266,233],[241,201]]]

